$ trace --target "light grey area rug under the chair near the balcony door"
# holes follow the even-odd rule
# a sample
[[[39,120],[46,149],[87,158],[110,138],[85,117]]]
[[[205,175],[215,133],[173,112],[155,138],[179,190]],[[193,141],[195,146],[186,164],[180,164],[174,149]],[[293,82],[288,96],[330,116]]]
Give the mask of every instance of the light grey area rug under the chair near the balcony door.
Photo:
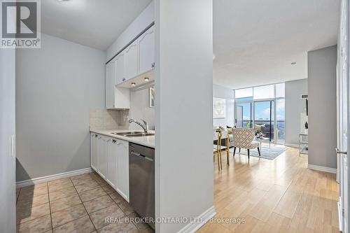
[[[234,148],[230,148],[230,153],[233,153]],[[262,145],[260,149],[260,154],[258,154],[258,149],[253,149],[249,151],[249,155],[253,157],[260,157],[262,159],[274,160],[277,156],[281,155],[286,150],[285,147],[273,146],[271,148],[269,145]],[[236,149],[236,155],[248,155],[248,151],[246,149],[241,149],[241,153],[239,152],[239,148]]]

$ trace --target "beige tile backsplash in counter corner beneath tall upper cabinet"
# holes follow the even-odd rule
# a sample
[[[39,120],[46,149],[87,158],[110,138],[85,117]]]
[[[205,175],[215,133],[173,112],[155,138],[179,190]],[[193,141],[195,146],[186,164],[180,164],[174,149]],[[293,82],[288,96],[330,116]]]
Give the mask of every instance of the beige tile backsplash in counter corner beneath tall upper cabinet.
[[[90,129],[129,129],[129,110],[90,110]]]

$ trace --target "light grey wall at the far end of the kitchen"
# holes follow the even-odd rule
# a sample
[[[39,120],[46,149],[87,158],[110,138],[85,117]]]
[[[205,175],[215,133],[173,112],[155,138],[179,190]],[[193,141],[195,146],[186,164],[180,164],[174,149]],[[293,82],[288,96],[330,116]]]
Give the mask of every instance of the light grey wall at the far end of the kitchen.
[[[17,181],[90,167],[90,109],[104,108],[105,52],[41,34],[16,56]]]

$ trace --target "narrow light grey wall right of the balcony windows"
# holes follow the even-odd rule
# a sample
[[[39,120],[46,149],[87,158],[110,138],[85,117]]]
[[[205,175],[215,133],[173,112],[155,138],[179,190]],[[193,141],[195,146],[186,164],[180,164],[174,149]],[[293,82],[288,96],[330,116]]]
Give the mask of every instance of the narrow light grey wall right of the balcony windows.
[[[300,114],[306,113],[305,99],[302,94],[307,94],[307,79],[286,82],[286,145],[298,146],[300,134]]]

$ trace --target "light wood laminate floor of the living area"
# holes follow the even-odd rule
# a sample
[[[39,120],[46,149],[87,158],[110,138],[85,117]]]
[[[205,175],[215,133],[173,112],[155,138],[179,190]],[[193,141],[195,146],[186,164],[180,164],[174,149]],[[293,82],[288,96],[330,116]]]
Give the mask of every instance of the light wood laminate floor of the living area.
[[[295,148],[275,160],[223,153],[214,165],[216,216],[245,223],[206,223],[197,232],[339,232],[335,174],[307,169],[307,156]]]

